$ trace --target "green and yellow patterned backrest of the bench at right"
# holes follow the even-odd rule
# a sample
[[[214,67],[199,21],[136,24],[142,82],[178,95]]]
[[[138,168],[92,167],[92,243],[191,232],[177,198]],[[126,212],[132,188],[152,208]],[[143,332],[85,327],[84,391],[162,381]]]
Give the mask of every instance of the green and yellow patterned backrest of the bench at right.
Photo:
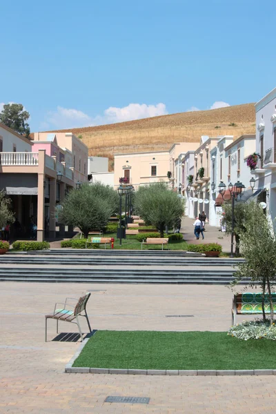
[[[276,311],[276,293],[273,293],[273,309]],[[235,296],[237,313],[262,313],[262,293],[239,293]],[[264,311],[270,312],[268,295],[264,299]]]

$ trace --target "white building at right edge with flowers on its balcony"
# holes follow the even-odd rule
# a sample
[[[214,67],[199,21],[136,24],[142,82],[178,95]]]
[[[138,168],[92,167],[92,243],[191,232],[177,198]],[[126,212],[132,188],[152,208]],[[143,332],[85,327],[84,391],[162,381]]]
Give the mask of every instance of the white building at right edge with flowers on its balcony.
[[[255,173],[258,201],[266,202],[271,219],[276,217],[276,88],[255,104],[256,152],[260,160]]]

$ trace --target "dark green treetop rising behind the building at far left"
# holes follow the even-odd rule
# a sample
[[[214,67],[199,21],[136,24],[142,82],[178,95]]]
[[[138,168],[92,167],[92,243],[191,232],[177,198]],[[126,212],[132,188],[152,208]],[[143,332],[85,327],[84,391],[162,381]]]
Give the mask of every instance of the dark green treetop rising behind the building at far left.
[[[7,103],[3,106],[2,112],[0,112],[0,122],[2,124],[12,128],[21,135],[25,135],[27,138],[30,135],[30,127],[26,122],[29,117],[29,112],[24,110],[21,103]]]

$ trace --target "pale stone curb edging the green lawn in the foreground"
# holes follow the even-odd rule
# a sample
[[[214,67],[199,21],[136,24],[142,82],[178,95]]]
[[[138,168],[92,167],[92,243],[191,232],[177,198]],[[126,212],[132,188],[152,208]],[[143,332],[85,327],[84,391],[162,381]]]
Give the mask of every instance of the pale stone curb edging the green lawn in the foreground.
[[[66,364],[65,372],[71,374],[117,374],[117,375],[198,375],[198,376],[220,376],[220,375],[276,375],[276,369],[241,369],[241,370],[174,370],[174,369],[124,369],[124,368],[88,368],[83,366],[72,366],[75,359],[86,346],[90,338],[84,339],[75,352],[75,355]]]

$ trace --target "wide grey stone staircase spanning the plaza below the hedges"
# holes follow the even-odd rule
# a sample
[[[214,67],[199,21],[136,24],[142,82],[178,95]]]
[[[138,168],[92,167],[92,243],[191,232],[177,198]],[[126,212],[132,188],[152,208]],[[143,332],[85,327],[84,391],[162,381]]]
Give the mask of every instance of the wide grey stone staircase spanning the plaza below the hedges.
[[[55,249],[0,256],[0,281],[230,284],[239,262],[179,251]]]

